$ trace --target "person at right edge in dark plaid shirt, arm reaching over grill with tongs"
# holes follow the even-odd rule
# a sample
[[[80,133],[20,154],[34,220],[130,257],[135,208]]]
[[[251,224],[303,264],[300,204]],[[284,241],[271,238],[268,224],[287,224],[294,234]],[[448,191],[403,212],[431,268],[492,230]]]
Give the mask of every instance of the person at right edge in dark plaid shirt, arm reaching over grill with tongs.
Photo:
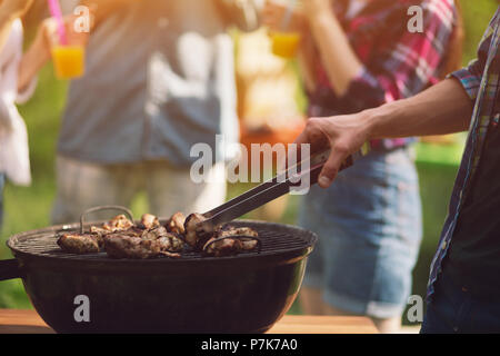
[[[328,189],[342,162],[370,139],[468,130],[430,266],[422,334],[500,333],[499,78],[500,6],[478,57],[467,67],[411,98],[353,115],[310,118],[296,139],[299,146],[310,145],[311,151],[331,149],[318,178]]]

